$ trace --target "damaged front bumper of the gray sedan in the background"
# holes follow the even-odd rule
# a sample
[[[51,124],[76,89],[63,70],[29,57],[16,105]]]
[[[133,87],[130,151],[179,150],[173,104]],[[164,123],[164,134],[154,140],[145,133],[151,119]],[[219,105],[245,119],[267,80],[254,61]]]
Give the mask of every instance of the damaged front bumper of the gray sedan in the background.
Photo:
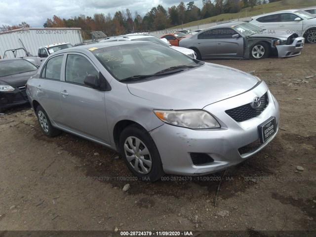
[[[289,45],[276,45],[278,57],[287,58],[300,55],[304,46],[304,41],[305,39],[303,37],[298,37]]]

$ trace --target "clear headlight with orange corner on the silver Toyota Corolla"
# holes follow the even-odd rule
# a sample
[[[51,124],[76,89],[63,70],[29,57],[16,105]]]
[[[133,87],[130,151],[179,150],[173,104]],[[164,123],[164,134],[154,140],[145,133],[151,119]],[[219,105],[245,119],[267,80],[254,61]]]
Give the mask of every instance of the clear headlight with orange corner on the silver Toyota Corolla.
[[[154,110],[155,115],[165,123],[192,129],[221,127],[217,120],[202,110]]]

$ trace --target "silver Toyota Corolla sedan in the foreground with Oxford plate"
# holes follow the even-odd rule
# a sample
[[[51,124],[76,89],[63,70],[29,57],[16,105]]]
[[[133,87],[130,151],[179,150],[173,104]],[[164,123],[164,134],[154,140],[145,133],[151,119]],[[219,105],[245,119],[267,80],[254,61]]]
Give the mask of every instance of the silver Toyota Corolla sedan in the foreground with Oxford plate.
[[[44,134],[63,130],[114,149],[150,182],[235,165],[267,146],[279,124],[264,81],[144,41],[53,53],[27,94]]]

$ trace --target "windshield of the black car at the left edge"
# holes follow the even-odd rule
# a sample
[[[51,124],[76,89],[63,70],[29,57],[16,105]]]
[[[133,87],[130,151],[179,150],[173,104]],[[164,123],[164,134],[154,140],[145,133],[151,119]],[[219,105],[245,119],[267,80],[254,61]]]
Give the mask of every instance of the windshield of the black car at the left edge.
[[[0,60],[0,78],[36,70],[38,68],[27,60]]]

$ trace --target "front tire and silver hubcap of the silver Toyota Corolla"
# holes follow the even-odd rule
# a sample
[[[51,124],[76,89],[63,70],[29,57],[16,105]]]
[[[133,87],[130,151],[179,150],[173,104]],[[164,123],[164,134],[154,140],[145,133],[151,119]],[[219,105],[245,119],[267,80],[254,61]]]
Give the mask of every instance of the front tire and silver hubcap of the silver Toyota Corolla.
[[[163,176],[162,163],[155,142],[141,126],[130,125],[121,132],[119,149],[128,169],[138,179],[155,182]]]

